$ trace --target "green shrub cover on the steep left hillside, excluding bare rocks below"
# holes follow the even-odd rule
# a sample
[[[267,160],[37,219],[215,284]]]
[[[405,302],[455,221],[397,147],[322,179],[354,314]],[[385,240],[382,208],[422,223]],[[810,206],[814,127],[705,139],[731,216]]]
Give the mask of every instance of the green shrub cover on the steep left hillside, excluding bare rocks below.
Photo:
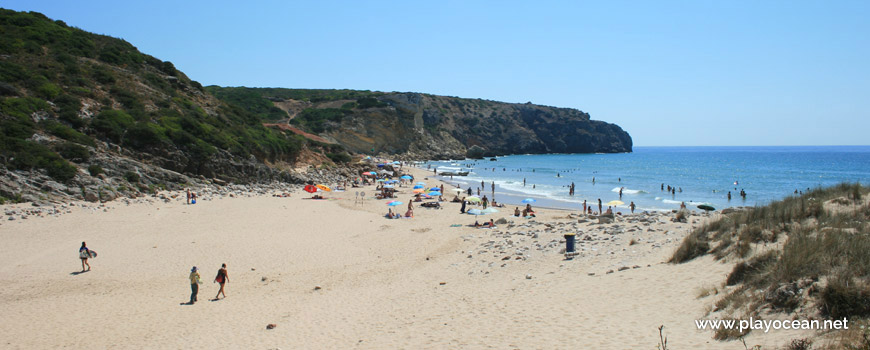
[[[262,105],[252,112],[250,106],[259,100],[226,96],[229,103],[220,103],[171,62],[124,40],[39,13],[5,9],[0,9],[0,33],[4,166],[43,169],[68,181],[76,174],[70,161],[88,161],[69,144],[93,147],[106,141],[157,156],[181,151],[188,161],[173,170],[196,173],[218,149],[243,158],[292,161],[304,145],[292,133],[261,125],[261,119],[275,118],[276,108]]]

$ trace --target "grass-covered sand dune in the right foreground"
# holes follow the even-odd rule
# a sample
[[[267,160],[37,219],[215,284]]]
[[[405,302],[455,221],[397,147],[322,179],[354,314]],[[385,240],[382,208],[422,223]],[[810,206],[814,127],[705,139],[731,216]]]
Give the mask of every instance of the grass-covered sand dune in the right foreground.
[[[840,184],[735,212],[695,229],[671,258],[713,254],[738,263],[720,310],[792,312],[805,305],[832,319],[870,317],[870,189]],[[748,311],[747,311],[748,310]],[[739,334],[718,334],[728,338]]]

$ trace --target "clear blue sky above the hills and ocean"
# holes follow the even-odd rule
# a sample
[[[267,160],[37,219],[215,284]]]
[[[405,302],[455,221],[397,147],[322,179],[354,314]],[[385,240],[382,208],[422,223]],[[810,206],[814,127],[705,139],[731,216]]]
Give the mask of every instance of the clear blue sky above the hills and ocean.
[[[870,1],[9,1],[203,85],[527,102],[637,146],[867,145]]]

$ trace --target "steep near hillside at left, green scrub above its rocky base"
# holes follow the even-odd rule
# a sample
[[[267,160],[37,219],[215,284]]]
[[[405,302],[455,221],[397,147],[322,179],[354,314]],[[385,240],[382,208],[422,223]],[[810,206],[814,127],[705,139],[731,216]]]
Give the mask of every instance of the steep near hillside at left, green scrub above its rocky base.
[[[124,40],[5,9],[0,33],[0,199],[292,181],[301,152],[343,152],[264,127]]]

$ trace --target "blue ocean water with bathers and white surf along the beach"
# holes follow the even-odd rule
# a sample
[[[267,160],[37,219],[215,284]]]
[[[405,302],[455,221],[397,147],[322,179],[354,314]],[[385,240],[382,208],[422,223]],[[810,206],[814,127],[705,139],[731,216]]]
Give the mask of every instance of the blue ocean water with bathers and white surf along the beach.
[[[431,161],[422,167],[470,171],[439,178],[471,187],[475,194],[483,181],[480,194],[489,197],[494,182],[496,200],[513,205],[534,198],[538,206],[577,209],[583,200],[597,207],[600,198],[624,202],[616,206],[619,211],[627,211],[632,201],[638,210],[677,209],[681,202],[722,209],[764,205],[795,190],[844,181],[870,184],[870,146],[635,147],[633,153],[511,155],[495,161]],[[572,182],[573,196],[568,193]],[[662,185],[677,192],[662,191]]]

